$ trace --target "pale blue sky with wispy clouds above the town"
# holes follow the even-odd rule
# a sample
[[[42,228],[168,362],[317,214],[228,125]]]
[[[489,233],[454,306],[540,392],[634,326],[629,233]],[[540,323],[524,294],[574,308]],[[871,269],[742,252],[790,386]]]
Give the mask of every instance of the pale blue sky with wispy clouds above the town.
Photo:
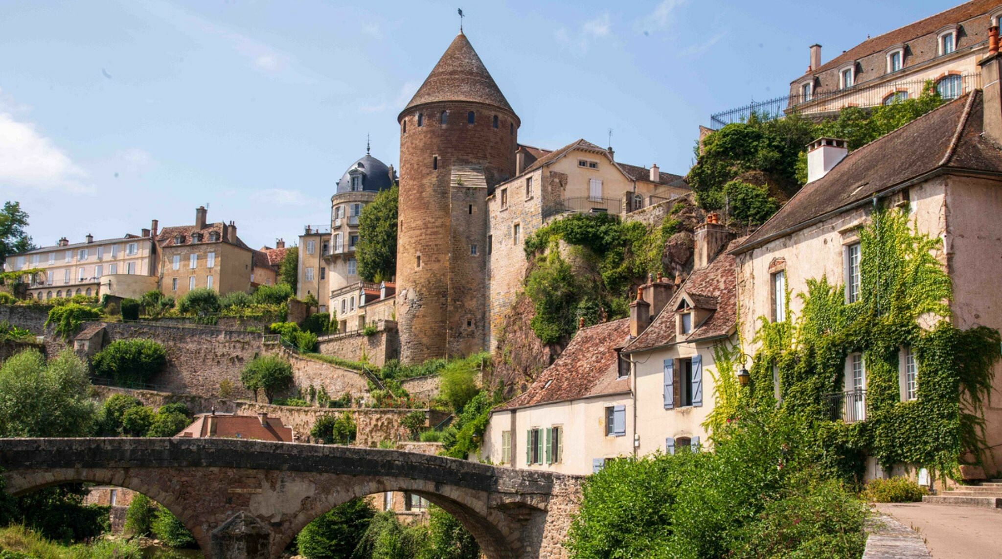
[[[463,27],[522,120],[684,174],[713,112],[786,95],[808,66],[955,4],[928,0],[0,1],[0,201],[40,245],[234,221],[254,247],[330,224],[365,154]],[[865,14],[865,17],[861,17]]]

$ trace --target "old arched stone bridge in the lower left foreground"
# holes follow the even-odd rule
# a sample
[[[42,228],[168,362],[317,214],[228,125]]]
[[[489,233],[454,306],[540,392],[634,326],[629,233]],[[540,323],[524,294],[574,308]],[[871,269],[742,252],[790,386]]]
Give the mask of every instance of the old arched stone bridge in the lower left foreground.
[[[562,557],[580,480],[356,447],[238,439],[0,439],[7,491],[125,487],[172,512],[212,558],[279,557],[310,521],[358,497],[407,491],[442,507],[489,558]]]

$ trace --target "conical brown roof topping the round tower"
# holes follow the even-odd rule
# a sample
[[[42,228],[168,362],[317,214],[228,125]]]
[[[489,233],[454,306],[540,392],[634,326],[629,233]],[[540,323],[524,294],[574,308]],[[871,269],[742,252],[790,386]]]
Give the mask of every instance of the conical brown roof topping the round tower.
[[[437,101],[473,101],[515,112],[463,33],[456,35],[401,114]]]

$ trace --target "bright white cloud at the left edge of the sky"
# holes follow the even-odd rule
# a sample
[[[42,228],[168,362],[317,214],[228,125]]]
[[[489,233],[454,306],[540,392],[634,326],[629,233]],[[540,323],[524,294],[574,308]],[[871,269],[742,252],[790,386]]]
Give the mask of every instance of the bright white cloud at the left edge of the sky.
[[[86,176],[36,124],[0,112],[0,186],[91,192]]]

